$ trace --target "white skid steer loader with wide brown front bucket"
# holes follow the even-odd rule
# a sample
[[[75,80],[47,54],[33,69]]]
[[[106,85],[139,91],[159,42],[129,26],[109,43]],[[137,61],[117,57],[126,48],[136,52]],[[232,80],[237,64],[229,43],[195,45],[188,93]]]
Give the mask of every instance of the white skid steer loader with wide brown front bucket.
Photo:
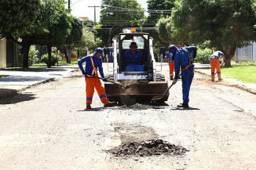
[[[142,52],[143,61],[140,64],[143,71],[126,71],[126,65],[129,61],[126,61],[125,52],[130,49],[130,42],[136,42],[137,49]],[[159,71],[156,69],[152,42],[153,39],[149,37],[148,33],[136,31],[120,33],[119,38],[113,38],[113,67],[112,74],[108,78],[129,88],[104,82],[109,101],[123,104],[150,101],[152,97],[163,95],[163,92],[166,91],[168,83],[165,81],[164,75],[159,73],[160,68]],[[168,97],[169,92],[166,92],[165,97],[160,102],[166,101]]]

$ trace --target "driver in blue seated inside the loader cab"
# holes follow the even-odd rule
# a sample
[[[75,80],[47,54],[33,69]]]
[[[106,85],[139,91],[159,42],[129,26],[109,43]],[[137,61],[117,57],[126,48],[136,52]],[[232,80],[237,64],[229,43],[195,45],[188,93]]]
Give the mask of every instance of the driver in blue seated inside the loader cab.
[[[126,71],[144,71],[142,62],[142,53],[137,50],[137,43],[131,42],[130,49],[126,51]]]

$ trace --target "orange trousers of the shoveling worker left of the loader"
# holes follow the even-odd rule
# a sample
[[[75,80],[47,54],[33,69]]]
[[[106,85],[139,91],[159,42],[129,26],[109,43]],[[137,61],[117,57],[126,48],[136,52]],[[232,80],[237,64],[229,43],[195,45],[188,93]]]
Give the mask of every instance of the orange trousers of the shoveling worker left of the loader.
[[[108,104],[108,99],[105,93],[104,87],[101,85],[99,78],[86,78],[86,105],[90,105],[93,102],[94,88],[100,96],[101,102]]]

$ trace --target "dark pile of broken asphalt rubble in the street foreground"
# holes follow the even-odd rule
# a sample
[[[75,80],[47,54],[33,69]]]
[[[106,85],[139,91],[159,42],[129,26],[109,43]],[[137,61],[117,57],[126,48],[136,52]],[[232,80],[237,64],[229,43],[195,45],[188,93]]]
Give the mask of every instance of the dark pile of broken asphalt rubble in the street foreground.
[[[125,143],[115,149],[109,150],[110,153],[114,154],[115,157],[122,156],[152,156],[152,155],[177,155],[185,154],[188,151],[182,146],[175,146],[162,139],[146,140],[141,143]]]

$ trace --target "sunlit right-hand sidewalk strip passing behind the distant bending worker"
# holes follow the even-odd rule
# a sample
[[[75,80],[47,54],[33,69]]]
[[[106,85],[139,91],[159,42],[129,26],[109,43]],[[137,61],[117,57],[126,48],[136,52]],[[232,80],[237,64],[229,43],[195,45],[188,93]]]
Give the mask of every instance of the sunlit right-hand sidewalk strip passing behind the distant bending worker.
[[[210,64],[196,64],[195,72],[209,76],[210,80]],[[237,88],[243,89],[256,95],[256,84],[254,83],[245,83],[236,78],[228,78],[223,74],[221,74],[221,78],[223,78],[223,81],[229,82],[229,84],[236,86]],[[217,79],[218,78],[216,77],[215,80]]]

